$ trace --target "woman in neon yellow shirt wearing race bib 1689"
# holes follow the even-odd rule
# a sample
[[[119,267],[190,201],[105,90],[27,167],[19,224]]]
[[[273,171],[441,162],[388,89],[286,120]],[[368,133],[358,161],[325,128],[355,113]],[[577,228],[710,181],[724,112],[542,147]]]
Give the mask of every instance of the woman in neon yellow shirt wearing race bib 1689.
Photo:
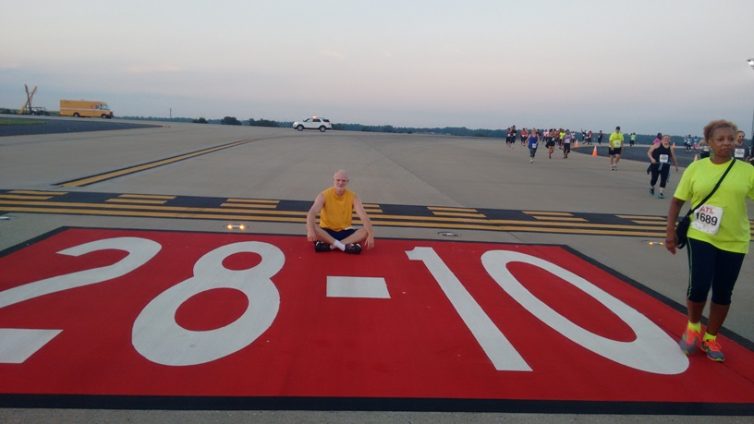
[[[754,167],[733,159],[736,125],[732,122],[710,122],[704,127],[704,139],[710,147],[710,157],[693,162],[683,173],[668,210],[665,247],[675,254],[676,219],[683,204],[690,201],[696,207],[712,193],[727,170],[718,189],[691,217],[688,230],[690,276],[686,294],[688,324],[679,342],[687,355],[700,347],[709,359],[722,362],[725,355],[717,342],[717,333],[728,315],[733,286],[749,250],[746,198],[754,199]],[[702,336],[702,311],[710,288],[709,321]]]

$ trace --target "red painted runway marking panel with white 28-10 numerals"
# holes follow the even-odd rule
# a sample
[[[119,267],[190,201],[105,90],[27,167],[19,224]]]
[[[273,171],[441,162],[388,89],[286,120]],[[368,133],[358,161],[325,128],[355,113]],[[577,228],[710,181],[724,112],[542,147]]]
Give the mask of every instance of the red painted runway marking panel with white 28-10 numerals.
[[[0,394],[754,402],[754,352],[686,358],[562,246],[65,229],[0,270]]]

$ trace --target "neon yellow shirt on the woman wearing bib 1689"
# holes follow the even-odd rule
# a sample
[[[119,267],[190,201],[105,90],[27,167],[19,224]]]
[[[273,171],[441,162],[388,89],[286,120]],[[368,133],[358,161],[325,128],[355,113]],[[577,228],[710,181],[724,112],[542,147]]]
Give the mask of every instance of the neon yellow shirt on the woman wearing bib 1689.
[[[691,200],[692,207],[696,206],[712,192],[728,165],[730,161],[718,165],[709,158],[693,162],[683,172],[673,196],[683,201]],[[691,226],[689,238],[705,241],[720,250],[748,253],[751,228],[746,197],[754,199],[754,166],[746,162],[735,163],[715,194],[706,202],[707,205],[723,209],[717,234],[705,233]],[[694,221],[693,215],[691,221]]]

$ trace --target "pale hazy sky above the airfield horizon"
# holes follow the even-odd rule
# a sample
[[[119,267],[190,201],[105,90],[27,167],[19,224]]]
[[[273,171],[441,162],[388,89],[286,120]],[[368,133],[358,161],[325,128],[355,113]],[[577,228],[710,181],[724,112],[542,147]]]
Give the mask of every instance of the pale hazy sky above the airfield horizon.
[[[8,108],[750,135],[751,57],[751,0],[0,0]]]

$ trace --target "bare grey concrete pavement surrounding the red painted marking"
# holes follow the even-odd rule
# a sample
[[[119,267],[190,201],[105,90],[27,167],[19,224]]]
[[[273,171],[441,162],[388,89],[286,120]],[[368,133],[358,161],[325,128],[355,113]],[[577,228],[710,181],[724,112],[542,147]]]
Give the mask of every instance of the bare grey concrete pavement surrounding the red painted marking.
[[[591,147],[586,148],[591,152]],[[162,162],[169,158],[176,160]],[[144,164],[149,166],[139,167]],[[527,149],[518,145],[508,148],[504,140],[495,139],[339,131],[301,133],[293,129],[198,124],[6,136],[0,137],[0,190],[4,190],[0,199],[9,203],[0,203],[0,216],[7,218],[0,220],[0,249],[19,250],[25,242],[64,226],[223,233],[227,232],[228,223],[241,222],[230,215],[207,218],[198,212],[191,212],[197,214],[196,218],[191,214],[160,215],[157,209],[132,215],[74,211],[87,207],[81,204],[69,205],[69,213],[27,212],[38,205],[34,203],[38,202],[35,196],[41,193],[52,193],[48,197],[55,197],[55,193],[64,192],[77,199],[96,197],[97,193],[121,197],[136,194],[145,205],[148,199],[171,196],[191,201],[267,199],[282,204],[285,200],[300,206],[331,184],[335,170],[345,168],[351,174],[350,188],[376,209],[380,205],[393,205],[397,213],[404,213],[404,209],[398,208],[404,205],[411,206],[405,208],[408,215],[417,213],[411,212],[417,208],[428,208],[436,216],[457,218],[442,221],[443,226],[438,227],[427,224],[426,216],[421,214],[394,219],[404,219],[405,225],[378,224],[375,252],[387,243],[381,238],[562,245],[638,282],[668,302],[682,304],[688,274],[685,251],[670,255],[659,244],[662,238],[656,231],[662,225],[667,198],[671,197],[680,174],[671,172],[667,198],[661,200],[647,192],[646,166],[645,161],[624,160],[612,172],[604,157],[574,153],[562,159],[556,150],[553,159],[548,159],[544,149],[539,150],[535,162],[530,164]],[[117,170],[125,171],[112,174]],[[112,198],[102,197],[97,202],[112,203]],[[4,210],[3,205],[8,209]],[[532,222],[551,224],[549,227],[542,224],[538,229],[532,224],[526,227],[531,229],[522,227],[520,231],[499,223],[499,227],[493,228],[488,222],[494,221],[495,211],[518,211]],[[480,219],[488,221],[464,221],[474,219],[475,214],[485,215],[486,218]],[[252,218],[242,222],[248,234],[303,235],[301,215],[290,216],[299,218]],[[632,219],[654,220],[655,230],[646,230],[645,236],[615,234],[603,231],[607,227],[600,227],[596,218],[592,219],[597,216],[610,216],[609,220],[605,218],[604,225],[608,226],[615,224],[613,219],[623,220],[624,224],[630,224]],[[469,222],[478,226],[466,225]],[[579,222],[586,224],[573,226]],[[749,353],[754,340],[753,277],[754,265],[747,257],[725,324],[726,331],[742,340]],[[754,363],[749,365],[754,367]],[[752,405],[747,408],[751,411]],[[510,409],[506,412],[171,411],[159,407],[54,409],[10,405],[0,409],[0,422],[702,423],[714,420],[748,423],[752,419],[705,414],[637,416],[640,412],[635,410],[605,415],[588,408],[587,413],[515,412]]]

